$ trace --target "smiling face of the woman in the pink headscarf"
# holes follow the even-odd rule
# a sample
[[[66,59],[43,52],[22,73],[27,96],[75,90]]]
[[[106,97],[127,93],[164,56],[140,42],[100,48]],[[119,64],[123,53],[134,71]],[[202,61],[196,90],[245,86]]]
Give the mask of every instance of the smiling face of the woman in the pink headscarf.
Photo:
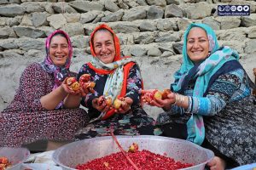
[[[68,58],[67,38],[56,35],[51,38],[49,44],[49,57],[55,65],[63,66]]]

